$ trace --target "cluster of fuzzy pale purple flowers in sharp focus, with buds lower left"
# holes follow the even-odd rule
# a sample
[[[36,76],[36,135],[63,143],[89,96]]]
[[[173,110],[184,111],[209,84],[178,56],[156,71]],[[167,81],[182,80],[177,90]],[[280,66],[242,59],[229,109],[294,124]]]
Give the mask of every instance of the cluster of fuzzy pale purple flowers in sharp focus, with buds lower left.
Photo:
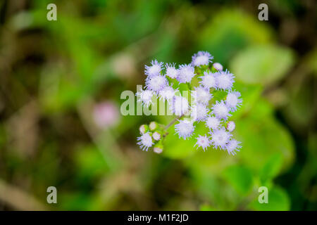
[[[146,88],[136,95],[145,107],[153,103],[153,98],[167,101],[170,112],[178,116],[175,120],[175,133],[180,139],[186,140],[194,136],[197,123],[203,122],[209,132],[195,137],[197,142],[194,146],[203,150],[212,146],[235,155],[241,146],[240,141],[232,138],[235,122],[229,118],[240,107],[242,99],[240,92],[233,89],[235,76],[212,60],[213,56],[206,51],[199,51],[192,56],[192,63],[178,67],[175,63],[164,64],[153,60],[151,65],[145,66]],[[194,79],[196,82],[193,82]],[[197,85],[194,86],[193,83]],[[180,84],[187,84],[189,97],[192,99],[190,103],[178,90]],[[225,97],[214,98],[217,92],[222,92]],[[141,136],[137,139],[140,148],[148,150],[154,147],[154,152],[161,153],[168,127],[164,128],[156,122],[142,125]]]

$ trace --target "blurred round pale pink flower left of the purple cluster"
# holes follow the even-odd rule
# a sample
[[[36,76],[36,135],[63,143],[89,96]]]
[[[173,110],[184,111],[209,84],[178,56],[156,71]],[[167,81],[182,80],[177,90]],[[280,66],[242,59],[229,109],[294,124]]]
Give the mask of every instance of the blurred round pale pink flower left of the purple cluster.
[[[98,127],[113,127],[120,119],[118,106],[112,101],[98,103],[94,106],[93,117]]]

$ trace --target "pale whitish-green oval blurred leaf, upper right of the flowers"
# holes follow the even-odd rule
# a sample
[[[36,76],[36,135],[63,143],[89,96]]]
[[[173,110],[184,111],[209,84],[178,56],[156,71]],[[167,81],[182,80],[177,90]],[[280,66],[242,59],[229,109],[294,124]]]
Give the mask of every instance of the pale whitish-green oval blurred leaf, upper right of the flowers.
[[[294,65],[294,53],[273,45],[251,46],[232,59],[230,68],[246,84],[271,84]]]

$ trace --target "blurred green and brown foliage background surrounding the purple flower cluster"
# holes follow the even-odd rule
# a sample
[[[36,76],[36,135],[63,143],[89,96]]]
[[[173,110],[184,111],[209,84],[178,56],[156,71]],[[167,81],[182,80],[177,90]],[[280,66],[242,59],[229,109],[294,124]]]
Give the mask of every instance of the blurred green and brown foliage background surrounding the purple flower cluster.
[[[313,0],[1,0],[0,209],[317,210],[316,15]],[[120,115],[121,92],[153,58],[197,51],[237,77],[242,150],[196,150],[171,127],[161,155],[143,152],[139,125],[170,117]]]

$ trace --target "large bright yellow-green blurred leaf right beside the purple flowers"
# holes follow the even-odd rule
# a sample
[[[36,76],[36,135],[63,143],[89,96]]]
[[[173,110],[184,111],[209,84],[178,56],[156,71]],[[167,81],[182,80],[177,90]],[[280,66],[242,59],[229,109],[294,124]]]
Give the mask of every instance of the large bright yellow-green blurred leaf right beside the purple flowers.
[[[254,172],[260,172],[271,160],[280,154],[282,169],[294,160],[294,143],[289,131],[273,117],[271,105],[258,101],[247,114],[235,120],[234,136],[242,142],[237,157]],[[279,170],[280,171],[280,170]]]

